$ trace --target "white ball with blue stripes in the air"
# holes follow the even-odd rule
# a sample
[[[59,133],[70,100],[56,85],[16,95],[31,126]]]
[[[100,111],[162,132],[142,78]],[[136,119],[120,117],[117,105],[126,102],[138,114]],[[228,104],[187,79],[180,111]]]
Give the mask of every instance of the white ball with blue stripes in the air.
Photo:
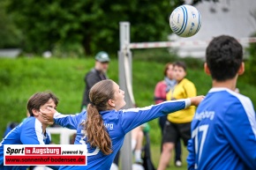
[[[201,27],[201,15],[192,5],[178,6],[169,16],[169,26],[180,37],[191,37]]]

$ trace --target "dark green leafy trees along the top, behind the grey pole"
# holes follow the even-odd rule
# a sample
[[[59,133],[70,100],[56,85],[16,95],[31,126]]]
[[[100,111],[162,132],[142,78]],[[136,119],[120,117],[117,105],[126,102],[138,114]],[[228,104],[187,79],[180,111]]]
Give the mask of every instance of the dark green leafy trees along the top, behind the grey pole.
[[[80,47],[87,54],[100,50],[116,53],[120,21],[131,23],[132,41],[166,41],[171,32],[169,14],[184,3],[175,1],[170,6],[169,1],[155,0],[3,1],[24,33],[22,48],[26,52],[41,54],[57,48],[58,52],[64,50],[64,55],[75,54]]]

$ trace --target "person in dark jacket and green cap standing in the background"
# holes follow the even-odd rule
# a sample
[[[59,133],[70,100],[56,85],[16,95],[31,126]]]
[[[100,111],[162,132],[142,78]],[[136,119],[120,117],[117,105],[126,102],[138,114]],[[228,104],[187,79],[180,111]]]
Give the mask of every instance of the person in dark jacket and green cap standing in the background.
[[[95,55],[95,66],[92,70],[87,72],[85,77],[85,92],[83,95],[82,101],[82,110],[86,110],[87,105],[89,104],[89,90],[92,88],[93,85],[102,81],[103,79],[108,79],[107,70],[109,69],[109,55],[108,53],[101,51]]]

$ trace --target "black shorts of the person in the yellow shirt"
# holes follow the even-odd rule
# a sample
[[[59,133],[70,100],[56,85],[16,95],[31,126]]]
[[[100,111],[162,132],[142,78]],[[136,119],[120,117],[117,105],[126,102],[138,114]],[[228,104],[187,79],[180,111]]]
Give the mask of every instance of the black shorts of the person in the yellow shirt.
[[[183,139],[186,146],[188,140],[191,138],[191,122],[174,123],[166,121],[163,130],[163,143],[176,143],[178,140]]]

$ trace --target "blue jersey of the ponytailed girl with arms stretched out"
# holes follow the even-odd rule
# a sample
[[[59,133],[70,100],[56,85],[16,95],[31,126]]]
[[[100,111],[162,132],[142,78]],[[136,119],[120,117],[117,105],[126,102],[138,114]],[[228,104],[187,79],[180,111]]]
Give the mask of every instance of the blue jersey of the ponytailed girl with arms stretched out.
[[[81,126],[86,121],[87,112],[81,112],[79,115],[61,115],[55,114],[55,122],[69,129],[77,129],[77,136],[74,144],[87,144],[87,166],[61,166],[60,169],[104,169],[108,170],[124,143],[124,136],[139,125],[151,121],[156,117],[167,115],[185,107],[190,106],[191,100],[172,100],[165,101],[158,105],[142,108],[131,108],[124,110],[102,111],[102,119],[109,137],[112,141],[113,152],[104,155],[99,148],[91,147],[87,143],[87,133]]]

